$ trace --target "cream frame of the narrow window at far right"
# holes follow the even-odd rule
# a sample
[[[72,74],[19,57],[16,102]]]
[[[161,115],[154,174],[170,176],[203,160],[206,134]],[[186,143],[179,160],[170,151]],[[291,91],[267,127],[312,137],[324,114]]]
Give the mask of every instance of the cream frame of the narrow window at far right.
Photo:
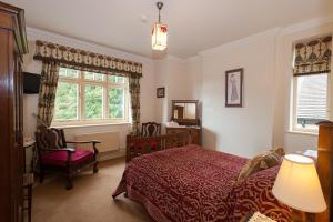
[[[315,73],[315,74],[327,74],[327,97],[326,97],[326,117],[327,119],[331,119],[331,89],[332,89],[332,78],[331,73]],[[315,74],[309,74],[309,75],[315,75]],[[291,97],[291,127],[290,131],[295,132],[295,133],[309,133],[309,134],[316,134],[319,132],[319,128],[300,128],[297,124],[297,80],[300,77],[304,75],[299,75],[299,77],[292,77],[292,97]]]

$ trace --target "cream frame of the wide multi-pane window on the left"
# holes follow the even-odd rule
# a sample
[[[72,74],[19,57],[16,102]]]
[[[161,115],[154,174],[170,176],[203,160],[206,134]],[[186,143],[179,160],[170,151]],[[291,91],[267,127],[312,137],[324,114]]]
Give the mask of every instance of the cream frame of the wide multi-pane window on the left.
[[[63,67],[61,67],[63,68]],[[68,69],[68,68],[64,68]],[[130,123],[130,117],[129,117],[129,107],[130,107],[130,95],[129,95],[129,80],[124,77],[124,82],[111,82],[108,79],[108,74],[103,74],[103,80],[88,80],[84,78],[84,72],[81,70],[77,70],[79,77],[64,77],[59,74],[58,83],[64,82],[64,83],[71,83],[71,84],[78,84],[78,120],[56,120],[56,111],[54,111],[54,118],[52,120],[51,125],[52,127],[80,127],[80,125],[103,125],[103,124],[125,124]],[[98,73],[98,72],[95,72]],[[100,85],[102,87],[103,91],[103,103],[102,103],[102,118],[101,119],[85,119],[84,118],[84,101],[85,101],[85,85]],[[111,119],[109,118],[109,89],[115,88],[115,89],[124,89],[124,118],[123,119]]]

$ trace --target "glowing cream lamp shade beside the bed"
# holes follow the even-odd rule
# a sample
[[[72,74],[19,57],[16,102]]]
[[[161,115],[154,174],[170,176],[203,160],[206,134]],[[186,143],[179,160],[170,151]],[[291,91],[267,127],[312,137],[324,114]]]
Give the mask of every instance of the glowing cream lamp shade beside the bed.
[[[320,213],[326,209],[314,162],[304,155],[284,157],[272,192],[282,203],[303,212]]]

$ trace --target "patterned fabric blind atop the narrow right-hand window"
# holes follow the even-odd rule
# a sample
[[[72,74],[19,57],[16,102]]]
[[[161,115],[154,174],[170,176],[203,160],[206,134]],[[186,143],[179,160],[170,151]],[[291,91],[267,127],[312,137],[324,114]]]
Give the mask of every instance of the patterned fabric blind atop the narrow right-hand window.
[[[295,44],[294,75],[331,71],[332,36]]]

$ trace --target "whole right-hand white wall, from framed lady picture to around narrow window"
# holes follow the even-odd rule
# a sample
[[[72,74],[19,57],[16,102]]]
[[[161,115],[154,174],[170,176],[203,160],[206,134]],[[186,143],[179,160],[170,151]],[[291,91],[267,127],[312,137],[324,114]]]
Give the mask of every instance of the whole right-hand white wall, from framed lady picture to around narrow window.
[[[203,144],[245,157],[272,147],[315,149],[317,135],[290,132],[293,43],[330,33],[332,18],[314,19],[201,52]],[[236,68],[244,68],[244,108],[225,108],[224,73]]]

